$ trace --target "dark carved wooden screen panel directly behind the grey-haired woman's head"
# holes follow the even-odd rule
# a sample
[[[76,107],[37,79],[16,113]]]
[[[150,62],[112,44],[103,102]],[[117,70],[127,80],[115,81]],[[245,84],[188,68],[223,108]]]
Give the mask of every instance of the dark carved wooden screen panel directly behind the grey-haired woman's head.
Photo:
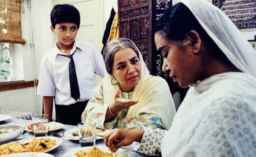
[[[151,0],[118,0],[119,37],[131,39],[151,72]]]

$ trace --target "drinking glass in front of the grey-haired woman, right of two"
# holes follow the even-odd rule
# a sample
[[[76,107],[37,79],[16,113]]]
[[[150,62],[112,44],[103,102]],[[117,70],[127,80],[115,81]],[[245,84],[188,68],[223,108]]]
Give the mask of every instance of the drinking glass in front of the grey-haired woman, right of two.
[[[79,143],[81,147],[94,146],[96,137],[96,124],[90,122],[80,122],[78,126]]]

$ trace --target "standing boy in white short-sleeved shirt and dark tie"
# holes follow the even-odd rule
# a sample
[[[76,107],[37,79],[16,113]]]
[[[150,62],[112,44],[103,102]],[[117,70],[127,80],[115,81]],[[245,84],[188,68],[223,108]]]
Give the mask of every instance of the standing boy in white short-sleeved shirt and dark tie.
[[[93,74],[103,77],[105,64],[92,44],[75,41],[80,14],[74,6],[55,5],[51,23],[58,41],[42,58],[37,94],[43,96],[49,121],[52,121],[54,98],[56,121],[77,125],[95,88]]]

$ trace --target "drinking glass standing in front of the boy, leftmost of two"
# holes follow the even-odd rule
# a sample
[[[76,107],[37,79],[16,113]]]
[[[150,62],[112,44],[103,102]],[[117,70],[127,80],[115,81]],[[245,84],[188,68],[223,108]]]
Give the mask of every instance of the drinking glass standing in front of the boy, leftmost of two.
[[[48,133],[48,115],[36,114],[32,116],[33,130],[35,137],[47,136]]]

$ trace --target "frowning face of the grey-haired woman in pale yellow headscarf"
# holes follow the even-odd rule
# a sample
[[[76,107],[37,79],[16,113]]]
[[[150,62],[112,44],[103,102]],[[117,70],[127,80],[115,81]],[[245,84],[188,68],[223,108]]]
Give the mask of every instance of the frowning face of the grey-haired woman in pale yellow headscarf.
[[[114,55],[112,67],[113,77],[118,81],[121,89],[130,92],[140,81],[141,64],[139,57],[132,48],[118,50]]]

